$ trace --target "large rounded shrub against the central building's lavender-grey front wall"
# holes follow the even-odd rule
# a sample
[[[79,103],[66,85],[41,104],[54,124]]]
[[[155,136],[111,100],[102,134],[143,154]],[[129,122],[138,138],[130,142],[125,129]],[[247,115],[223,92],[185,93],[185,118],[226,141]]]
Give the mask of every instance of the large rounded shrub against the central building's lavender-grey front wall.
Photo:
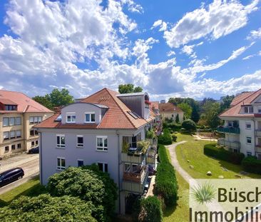
[[[98,171],[97,166],[68,167],[49,178],[47,189],[52,196],[70,195],[83,201],[91,201],[96,207],[93,217],[98,221],[108,221],[108,217],[114,212],[116,185],[108,173]]]

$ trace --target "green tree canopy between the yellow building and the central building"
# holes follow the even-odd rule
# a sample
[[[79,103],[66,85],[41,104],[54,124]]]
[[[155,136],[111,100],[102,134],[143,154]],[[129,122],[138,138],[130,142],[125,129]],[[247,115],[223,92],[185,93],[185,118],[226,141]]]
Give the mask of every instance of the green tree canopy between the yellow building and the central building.
[[[32,99],[46,106],[48,109],[52,109],[56,106],[67,106],[73,103],[73,96],[70,95],[68,89],[53,89],[51,94],[46,94],[45,96],[34,96]]]

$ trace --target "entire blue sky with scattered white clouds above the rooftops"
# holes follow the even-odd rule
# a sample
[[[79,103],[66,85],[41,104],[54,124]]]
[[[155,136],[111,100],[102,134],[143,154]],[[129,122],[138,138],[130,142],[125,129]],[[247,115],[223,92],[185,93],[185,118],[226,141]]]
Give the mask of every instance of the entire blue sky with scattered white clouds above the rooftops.
[[[0,88],[82,97],[133,83],[151,99],[261,88],[261,3],[0,2]]]

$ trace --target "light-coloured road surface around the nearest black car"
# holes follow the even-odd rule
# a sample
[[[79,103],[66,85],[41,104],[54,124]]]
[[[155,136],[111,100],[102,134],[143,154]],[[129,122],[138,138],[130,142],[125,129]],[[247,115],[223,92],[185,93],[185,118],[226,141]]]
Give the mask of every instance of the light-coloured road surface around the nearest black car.
[[[6,191],[10,191],[17,186],[20,186],[22,183],[29,181],[29,179],[33,178],[34,176],[39,175],[39,158],[34,159],[33,161],[29,161],[27,163],[23,163],[17,167],[21,167],[24,170],[24,177],[21,178],[19,181],[14,181],[9,185],[3,186],[0,188],[0,194],[5,193]]]

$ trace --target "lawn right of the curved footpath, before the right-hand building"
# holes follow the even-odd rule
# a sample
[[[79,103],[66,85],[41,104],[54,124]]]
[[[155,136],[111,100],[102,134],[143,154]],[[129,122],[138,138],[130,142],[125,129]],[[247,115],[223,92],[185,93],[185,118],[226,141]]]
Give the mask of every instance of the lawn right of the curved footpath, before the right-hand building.
[[[203,153],[204,145],[213,142],[195,141],[193,136],[180,133],[178,133],[177,136],[178,141],[187,141],[187,143],[180,144],[176,148],[178,162],[193,178],[218,178],[218,176],[236,178],[235,175],[242,171],[242,166],[205,156]],[[190,165],[194,168],[190,168]],[[224,171],[222,167],[227,168],[228,171]],[[207,176],[206,173],[208,171],[211,171],[213,176]],[[242,177],[261,178],[261,175],[250,173]]]

